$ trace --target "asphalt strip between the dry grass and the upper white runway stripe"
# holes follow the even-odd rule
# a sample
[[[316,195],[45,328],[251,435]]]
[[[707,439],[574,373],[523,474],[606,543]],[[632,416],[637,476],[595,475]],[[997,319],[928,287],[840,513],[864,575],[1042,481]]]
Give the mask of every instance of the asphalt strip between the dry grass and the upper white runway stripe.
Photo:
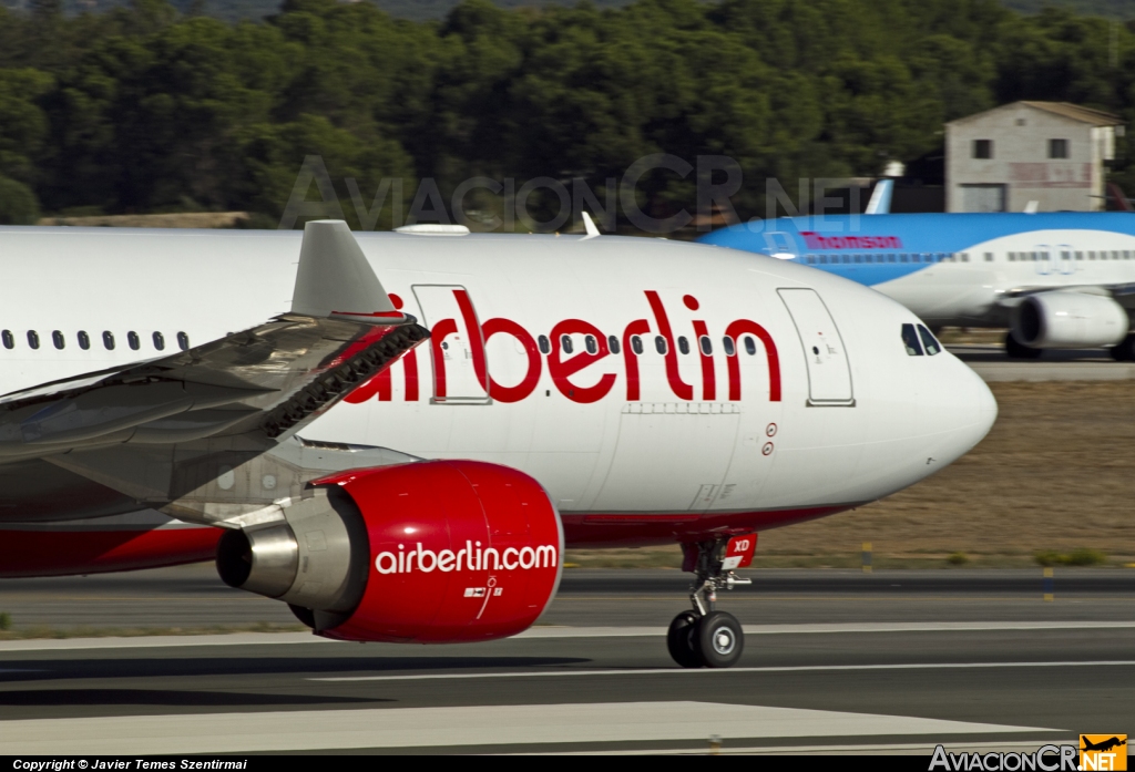
[[[745,625],[898,621],[1135,620],[1135,569],[1056,569],[1056,601],[1027,570],[770,569],[720,595]],[[687,608],[690,575],[665,569],[566,569],[540,625],[666,626]],[[89,577],[0,580],[17,629],[246,628],[294,625],[283,603],[225,586],[211,563]],[[1118,614],[1118,616],[1116,616]]]

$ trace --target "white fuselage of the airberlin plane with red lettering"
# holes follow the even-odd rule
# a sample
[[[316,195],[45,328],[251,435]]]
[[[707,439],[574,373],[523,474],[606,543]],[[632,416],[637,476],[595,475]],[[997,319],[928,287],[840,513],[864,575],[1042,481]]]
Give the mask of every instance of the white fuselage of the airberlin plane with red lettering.
[[[301,237],[0,229],[0,331],[12,346],[0,346],[0,391],[160,357],[178,333],[195,346],[288,311]],[[358,241],[434,340],[303,436],[515,467],[565,516],[846,508],[944,467],[995,416],[952,355],[907,355],[909,311],[802,265],[617,237]]]

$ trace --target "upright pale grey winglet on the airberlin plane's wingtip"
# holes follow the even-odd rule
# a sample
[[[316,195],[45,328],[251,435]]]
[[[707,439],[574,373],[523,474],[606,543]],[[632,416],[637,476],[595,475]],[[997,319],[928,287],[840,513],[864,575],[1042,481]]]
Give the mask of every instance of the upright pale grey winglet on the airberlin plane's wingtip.
[[[316,220],[304,227],[292,313],[402,317],[342,220]]]

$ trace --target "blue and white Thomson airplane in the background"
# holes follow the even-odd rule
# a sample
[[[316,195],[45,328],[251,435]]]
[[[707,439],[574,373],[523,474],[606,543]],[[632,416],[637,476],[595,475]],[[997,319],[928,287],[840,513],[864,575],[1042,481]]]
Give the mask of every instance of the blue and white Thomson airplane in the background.
[[[932,329],[1007,326],[1011,357],[1108,347],[1116,359],[1135,360],[1132,213],[779,218],[701,240],[867,285]]]

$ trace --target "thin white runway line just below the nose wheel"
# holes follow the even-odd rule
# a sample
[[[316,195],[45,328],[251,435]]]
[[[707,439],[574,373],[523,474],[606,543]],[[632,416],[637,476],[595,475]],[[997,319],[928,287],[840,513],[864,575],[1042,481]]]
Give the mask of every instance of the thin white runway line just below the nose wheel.
[[[815,664],[775,668],[641,668],[638,670],[549,670],[499,673],[428,673],[420,676],[323,676],[309,681],[436,681],[465,678],[561,678],[566,676],[674,676],[681,673],[792,673],[841,670],[972,670],[982,668],[1100,668],[1132,667],[1135,660],[1094,662],[927,662],[925,664]]]

